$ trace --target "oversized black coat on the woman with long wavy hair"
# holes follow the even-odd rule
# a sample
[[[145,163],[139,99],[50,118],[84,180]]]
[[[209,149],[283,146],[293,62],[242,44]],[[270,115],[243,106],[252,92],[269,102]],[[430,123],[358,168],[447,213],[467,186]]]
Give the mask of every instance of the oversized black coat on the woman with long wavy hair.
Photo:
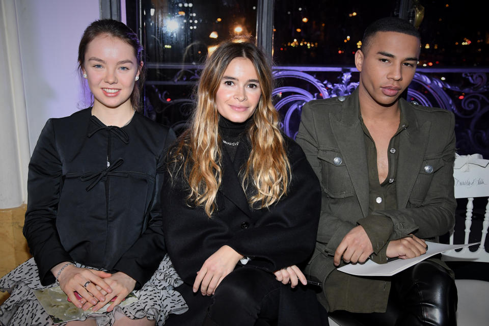
[[[247,142],[240,142],[234,163],[223,151],[222,185],[216,198],[218,210],[211,218],[202,207],[189,207],[185,203],[188,189],[181,177],[177,176],[173,181],[165,178],[167,190],[161,192],[161,204],[166,215],[162,223],[165,243],[173,265],[185,283],[177,290],[189,304],[189,311],[181,316],[185,321],[171,316],[169,324],[199,323],[198,318],[188,321],[191,320],[189,315],[202,310],[202,307],[193,305],[209,305],[211,297],[202,297],[199,292],[197,298],[191,298],[196,272],[209,256],[224,245],[244,256],[253,257],[247,267],[263,268],[270,273],[293,264],[301,265],[313,252],[321,192],[304,152],[295,142],[285,139],[292,169],[287,195],[269,209],[251,209],[238,178],[240,162],[246,162],[249,146]],[[302,300],[304,296],[288,295],[292,293],[290,286],[284,285],[284,290],[281,291],[281,312],[289,311],[287,308],[293,310],[295,307],[292,306],[296,304],[294,300],[302,301],[298,306],[307,306],[308,303]],[[286,297],[282,292],[287,293]],[[316,305],[314,295],[307,297],[313,300],[309,303]],[[288,303],[288,307],[284,307],[283,303]],[[303,311],[302,314],[307,313]],[[279,319],[281,317],[279,315]],[[300,320],[303,316],[295,317]],[[172,323],[173,320],[178,321]]]

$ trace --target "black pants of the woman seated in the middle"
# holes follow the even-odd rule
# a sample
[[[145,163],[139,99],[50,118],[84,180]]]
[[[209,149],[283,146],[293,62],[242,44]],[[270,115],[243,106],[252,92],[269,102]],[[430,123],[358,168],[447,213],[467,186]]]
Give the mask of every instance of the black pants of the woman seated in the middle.
[[[327,312],[316,300],[312,288],[290,288],[268,271],[237,267],[215,289],[203,296],[192,286],[178,288],[188,305],[181,315],[171,314],[165,326],[326,326]]]

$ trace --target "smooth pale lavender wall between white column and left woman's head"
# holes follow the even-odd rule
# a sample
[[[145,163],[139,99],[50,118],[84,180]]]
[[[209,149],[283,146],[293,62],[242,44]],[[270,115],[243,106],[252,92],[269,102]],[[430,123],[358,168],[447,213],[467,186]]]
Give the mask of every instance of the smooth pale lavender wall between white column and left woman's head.
[[[78,110],[78,43],[99,0],[16,0],[31,153],[48,118]]]

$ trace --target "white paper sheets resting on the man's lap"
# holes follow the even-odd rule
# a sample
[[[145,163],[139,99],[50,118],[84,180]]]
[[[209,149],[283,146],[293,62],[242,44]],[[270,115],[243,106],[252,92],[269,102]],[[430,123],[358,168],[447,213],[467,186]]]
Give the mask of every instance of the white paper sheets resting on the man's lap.
[[[347,264],[345,266],[339,267],[338,270],[343,273],[357,275],[357,276],[393,276],[394,274],[399,273],[401,270],[404,270],[408,267],[411,267],[418,262],[425,260],[431,256],[442,253],[447,250],[459,249],[463,247],[472,246],[476,243],[469,244],[444,244],[444,243],[436,243],[426,241],[428,245],[428,249],[426,253],[415,258],[408,259],[397,259],[390,261],[385,264],[377,264],[372,260],[368,259],[365,263],[357,263],[357,264]]]

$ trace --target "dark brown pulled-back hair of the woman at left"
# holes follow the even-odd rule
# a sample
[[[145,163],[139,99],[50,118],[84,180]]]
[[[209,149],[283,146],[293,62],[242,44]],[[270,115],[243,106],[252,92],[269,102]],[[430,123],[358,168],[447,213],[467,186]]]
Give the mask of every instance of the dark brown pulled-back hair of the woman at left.
[[[111,37],[117,37],[122,41],[129,44],[134,49],[134,56],[139,63],[143,60],[144,48],[138,40],[138,36],[132,32],[124,23],[113,19],[100,19],[92,22],[85,32],[83,33],[80,45],[78,46],[78,69],[80,75],[83,75],[83,64],[85,62],[85,52],[87,51],[88,44],[93,41],[99,35],[108,35]],[[146,77],[144,67],[141,68],[139,74],[139,80],[134,83],[134,89],[131,94],[131,104],[135,110],[141,110],[140,104],[140,88],[144,84]]]

